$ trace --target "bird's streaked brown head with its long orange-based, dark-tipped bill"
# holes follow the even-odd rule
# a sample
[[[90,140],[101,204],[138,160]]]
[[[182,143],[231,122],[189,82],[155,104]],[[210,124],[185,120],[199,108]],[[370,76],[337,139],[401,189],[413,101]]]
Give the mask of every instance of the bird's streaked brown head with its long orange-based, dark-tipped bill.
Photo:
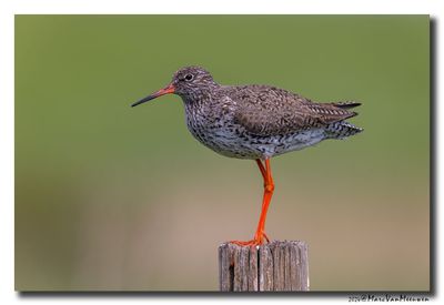
[[[148,95],[147,98],[133,103],[131,106],[151,101],[164,94],[174,93],[184,99],[199,95],[202,91],[210,90],[218,84],[214,82],[210,72],[200,67],[185,67],[178,70],[171,82],[163,89]]]

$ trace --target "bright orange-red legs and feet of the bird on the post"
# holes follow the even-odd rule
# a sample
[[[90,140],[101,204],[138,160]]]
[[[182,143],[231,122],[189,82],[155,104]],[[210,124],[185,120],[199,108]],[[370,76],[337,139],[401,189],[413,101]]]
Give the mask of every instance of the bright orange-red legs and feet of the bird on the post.
[[[271,174],[270,159],[265,159],[265,166],[259,159],[256,160],[256,163],[264,180],[264,194],[262,200],[261,217],[259,218],[256,233],[254,234],[253,240],[246,242],[231,241],[231,243],[241,246],[255,246],[255,245],[262,245],[265,241],[270,242],[269,237],[265,234],[265,218],[266,218],[266,211],[269,210],[271,197],[274,191],[274,182]]]

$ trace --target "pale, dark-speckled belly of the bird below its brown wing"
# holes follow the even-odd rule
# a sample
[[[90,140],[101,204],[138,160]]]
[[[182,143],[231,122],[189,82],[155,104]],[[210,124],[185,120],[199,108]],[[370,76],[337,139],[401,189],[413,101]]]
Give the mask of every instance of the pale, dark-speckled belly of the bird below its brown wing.
[[[189,124],[193,136],[202,144],[224,156],[236,159],[268,159],[285,152],[302,150],[325,139],[321,129],[291,134],[260,136],[245,130],[229,126],[194,128]]]

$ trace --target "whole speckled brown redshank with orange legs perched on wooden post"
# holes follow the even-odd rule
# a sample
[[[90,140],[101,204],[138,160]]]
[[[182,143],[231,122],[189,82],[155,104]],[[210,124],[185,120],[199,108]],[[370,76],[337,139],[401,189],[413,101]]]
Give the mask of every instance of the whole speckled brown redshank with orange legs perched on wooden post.
[[[265,218],[274,191],[272,156],[363,131],[344,121],[357,114],[350,109],[359,102],[317,103],[271,85],[221,85],[200,67],[180,69],[165,88],[132,106],[168,93],[182,98],[188,129],[202,144],[258,163],[264,182],[262,211],[253,240],[232,241],[242,246],[269,242]]]

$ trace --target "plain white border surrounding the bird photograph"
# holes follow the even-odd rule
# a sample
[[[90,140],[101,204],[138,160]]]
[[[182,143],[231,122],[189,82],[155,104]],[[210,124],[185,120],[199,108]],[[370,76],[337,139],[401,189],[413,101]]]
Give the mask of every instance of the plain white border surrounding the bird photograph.
[[[172,297],[160,298],[154,296],[147,297],[21,297],[13,291],[14,288],[14,266],[13,266],[13,24],[14,14],[59,14],[59,13],[77,13],[77,14],[149,14],[149,13],[235,13],[235,14],[431,14],[435,19],[436,41],[435,41],[435,110],[436,115],[436,159],[440,157],[443,143],[443,130],[440,124],[440,118],[443,118],[443,108],[440,106],[440,88],[443,88],[438,72],[442,71],[442,63],[438,59],[438,51],[442,50],[442,32],[440,30],[441,20],[444,13],[444,2],[442,0],[17,0],[0,1],[0,301],[2,304],[13,304],[19,302],[44,302],[62,303],[78,302],[82,304],[108,304],[110,302],[118,304],[127,304],[128,302],[183,302],[200,303],[208,302],[208,297]],[[435,297],[431,301],[440,301],[441,287],[440,275],[442,273],[442,264],[440,264],[440,245],[442,234],[440,234],[440,222],[442,220],[442,209],[440,209],[438,199],[440,190],[444,189],[442,181],[438,180],[440,173],[443,172],[442,162],[436,161],[436,202],[434,212],[435,217],[435,236],[437,238],[435,246],[435,272],[436,287]],[[273,302],[317,302],[326,299],[329,302],[349,302],[347,297],[297,297],[297,298],[273,298]],[[214,302],[245,303],[245,302],[270,302],[266,298],[215,298]]]

